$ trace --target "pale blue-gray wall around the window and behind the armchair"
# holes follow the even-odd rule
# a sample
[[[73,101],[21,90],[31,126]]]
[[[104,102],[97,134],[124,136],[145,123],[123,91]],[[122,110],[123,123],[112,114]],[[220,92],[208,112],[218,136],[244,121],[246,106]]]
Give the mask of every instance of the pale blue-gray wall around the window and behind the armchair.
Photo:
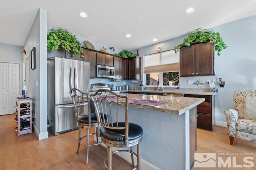
[[[228,48],[220,56],[215,53],[216,76],[181,77],[180,88],[198,88],[196,85],[187,84],[187,80],[218,79],[226,82],[224,88],[219,88],[216,95],[216,125],[226,126],[223,111],[233,108],[233,93],[239,89],[256,89],[256,16],[244,18],[214,29],[219,32]],[[156,46],[162,45],[162,51],[173,49],[187,36],[181,36],[165,42],[156,43],[139,48],[140,56],[155,53]],[[136,50],[134,50],[135,52]],[[218,85],[217,85],[218,86]],[[207,84],[203,88],[210,88]]]

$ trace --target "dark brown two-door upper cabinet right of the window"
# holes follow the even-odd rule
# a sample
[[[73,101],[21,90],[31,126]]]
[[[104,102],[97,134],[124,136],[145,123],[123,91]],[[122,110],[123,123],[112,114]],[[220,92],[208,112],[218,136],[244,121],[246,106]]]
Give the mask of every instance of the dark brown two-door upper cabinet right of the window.
[[[180,77],[215,75],[214,44],[197,43],[180,48]]]

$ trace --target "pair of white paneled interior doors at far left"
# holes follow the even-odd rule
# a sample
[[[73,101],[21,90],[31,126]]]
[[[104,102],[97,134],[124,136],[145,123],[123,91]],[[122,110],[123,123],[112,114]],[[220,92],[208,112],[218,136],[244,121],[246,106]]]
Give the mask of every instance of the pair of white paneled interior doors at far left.
[[[20,65],[0,62],[0,115],[15,111],[16,97],[20,92]]]

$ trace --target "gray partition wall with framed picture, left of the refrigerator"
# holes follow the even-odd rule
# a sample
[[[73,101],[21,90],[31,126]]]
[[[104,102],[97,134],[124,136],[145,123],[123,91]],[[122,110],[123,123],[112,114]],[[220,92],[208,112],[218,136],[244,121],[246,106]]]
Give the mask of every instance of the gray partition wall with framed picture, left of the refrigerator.
[[[36,48],[36,69],[29,71],[29,95],[33,99],[35,132],[38,139],[48,138],[47,132],[47,12],[40,9],[28,34],[24,49],[29,55]],[[30,67],[30,65],[29,65]],[[38,86],[36,85],[38,82]]]

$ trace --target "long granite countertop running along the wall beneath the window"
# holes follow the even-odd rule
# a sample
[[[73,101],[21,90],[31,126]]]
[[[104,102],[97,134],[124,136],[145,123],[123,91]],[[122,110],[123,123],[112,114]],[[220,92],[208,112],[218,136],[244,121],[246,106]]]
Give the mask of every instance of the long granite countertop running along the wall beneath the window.
[[[180,91],[128,90],[128,92],[174,93],[174,94],[188,94],[188,95],[210,95],[210,96],[214,96],[218,94],[216,92],[182,91],[182,90]]]

